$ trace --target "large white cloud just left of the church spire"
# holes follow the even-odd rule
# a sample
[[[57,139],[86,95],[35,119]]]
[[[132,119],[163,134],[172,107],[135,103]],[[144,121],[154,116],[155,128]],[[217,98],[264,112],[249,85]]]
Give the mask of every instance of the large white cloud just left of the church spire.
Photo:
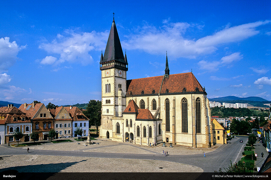
[[[108,31],[76,33],[73,30],[66,30],[65,35],[58,34],[51,43],[39,45],[40,49],[58,55],[58,58],[46,56],[41,64],[61,64],[66,61],[83,65],[91,64],[93,58],[89,52],[100,51],[106,45],[107,38]]]

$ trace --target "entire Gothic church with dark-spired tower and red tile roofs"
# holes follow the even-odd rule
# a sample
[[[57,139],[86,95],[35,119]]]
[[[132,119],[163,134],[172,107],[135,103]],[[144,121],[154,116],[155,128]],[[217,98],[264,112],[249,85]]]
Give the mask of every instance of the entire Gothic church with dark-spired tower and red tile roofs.
[[[128,62],[114,18],[100,70],[100,137],[139,145],[213,146],[205,88],[192,72],[170,74],[167,55],[164,75],[126,80]]]

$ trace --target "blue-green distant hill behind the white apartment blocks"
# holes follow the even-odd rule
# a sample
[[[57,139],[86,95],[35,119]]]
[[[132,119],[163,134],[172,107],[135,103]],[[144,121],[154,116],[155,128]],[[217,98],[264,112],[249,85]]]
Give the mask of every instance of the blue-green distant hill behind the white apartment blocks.
[[[266,99],[260,98],[260,97],[247,97],[247,98],[239,98],[236,96],[226,96],[221,98],[210,98],[209,101],[216,101],[220,103],[243,103],[248,104],[254,107],[269,107],[264,104],[270,104],[270,101],[267,101]]]

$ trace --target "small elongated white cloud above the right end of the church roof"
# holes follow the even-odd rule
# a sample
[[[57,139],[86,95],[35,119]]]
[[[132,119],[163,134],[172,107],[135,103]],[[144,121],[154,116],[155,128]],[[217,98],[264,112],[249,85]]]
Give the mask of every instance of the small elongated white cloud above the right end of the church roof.
[[[231,55],[224,56],[220,59],[220,61],[199,61],[198,65],[200,69],[208,70],[208,71],[217,71],[219,67],[226,66],[231,64],[233,61],[238,61],[243,58],[243,55],[240,52],[232,53]]]

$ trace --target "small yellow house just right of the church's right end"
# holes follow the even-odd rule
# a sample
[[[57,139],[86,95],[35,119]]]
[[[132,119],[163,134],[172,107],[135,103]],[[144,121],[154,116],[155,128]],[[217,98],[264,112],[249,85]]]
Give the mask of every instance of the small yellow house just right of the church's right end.
[[[213,127],[213,144],[226,144],[227,137],[224,133],[224,127],[216,121],[216,119],[212,119],[212,127]]]

